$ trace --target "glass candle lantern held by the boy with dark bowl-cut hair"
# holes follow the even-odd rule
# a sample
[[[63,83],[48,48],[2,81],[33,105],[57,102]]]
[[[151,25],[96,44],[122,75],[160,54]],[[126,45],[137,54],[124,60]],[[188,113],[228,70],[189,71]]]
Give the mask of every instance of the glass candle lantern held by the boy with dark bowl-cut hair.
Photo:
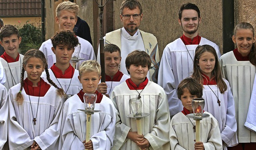
[[[141,116],[142,102],[141,102],[140,98],[131,98],[129,100],[129,106],[132,110],[132,114],[134,117]]]

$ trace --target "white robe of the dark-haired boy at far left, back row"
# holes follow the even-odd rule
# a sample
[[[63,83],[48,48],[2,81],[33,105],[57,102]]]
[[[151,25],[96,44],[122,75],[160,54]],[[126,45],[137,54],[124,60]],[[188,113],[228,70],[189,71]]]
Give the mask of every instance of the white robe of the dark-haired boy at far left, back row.
[[[4,86],[7,90],[9,90],[12,86],[20,83],[20,77],[21,77],[21,70],[22,70],[22,62],[23,62],[23,55],[20,54],[20,59],[17,62],[6,62],[3,58],[0,57],[0,61],[2,62],[2,65],[4,67],[4,72],[6,76],[6,82]],[[9,68],[9,66],[10,68]],[[27,77],[27,73],[24,73],[24,78]]]

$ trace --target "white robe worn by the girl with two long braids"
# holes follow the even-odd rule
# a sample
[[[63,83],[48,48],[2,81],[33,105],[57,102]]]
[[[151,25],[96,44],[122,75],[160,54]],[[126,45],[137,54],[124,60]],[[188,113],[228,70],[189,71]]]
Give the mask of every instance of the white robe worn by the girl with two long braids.
[[[24,150],[30,147],[34,140],[42,150],[58,149],[63,98],[58,96],[57,89],[51,86],[45,96],[40,97],[39,106],[38,97],[28,96],[24,88],[21,92],[24,102],[19,104],[15,100],[18,91],[20,91],[20,83],[9,90],[8,140],[10,149]],[[34,117],[37,112],[36,124],[33,122],[32,112]]]

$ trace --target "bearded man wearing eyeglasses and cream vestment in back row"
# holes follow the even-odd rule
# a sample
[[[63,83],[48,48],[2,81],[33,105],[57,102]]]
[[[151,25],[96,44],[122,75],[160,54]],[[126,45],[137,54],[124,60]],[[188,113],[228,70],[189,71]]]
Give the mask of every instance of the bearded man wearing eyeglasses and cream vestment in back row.
[[[116,44],[121,50],[120,71],[128,75],[125,66],[126,56],[134,50],[146,51],[151,58],[151,68],[147,74],[148,80],[157,83],[159,68],[158,43],[153,34],[138,30],[142,21],[142,6],[138,0],[125,0],[120,7],[120,19],[123,28],[109,32],[104,37],[105,44]],[[100,62],[100,49],[98,50]]]

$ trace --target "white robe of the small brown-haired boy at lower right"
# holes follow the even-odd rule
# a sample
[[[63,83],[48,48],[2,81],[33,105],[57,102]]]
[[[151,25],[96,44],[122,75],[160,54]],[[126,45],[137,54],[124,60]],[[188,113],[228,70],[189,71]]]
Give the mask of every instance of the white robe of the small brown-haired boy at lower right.
[[[217,120],[208,112],[210,117],[200,120],[201,142],[205,150],[222,150],[222,140]],[[171,150],[195,150],[194,140],[196,132],[193,125],[196,121],[187,118],[182,112],[174,115],[170,124],[170,145]]]

